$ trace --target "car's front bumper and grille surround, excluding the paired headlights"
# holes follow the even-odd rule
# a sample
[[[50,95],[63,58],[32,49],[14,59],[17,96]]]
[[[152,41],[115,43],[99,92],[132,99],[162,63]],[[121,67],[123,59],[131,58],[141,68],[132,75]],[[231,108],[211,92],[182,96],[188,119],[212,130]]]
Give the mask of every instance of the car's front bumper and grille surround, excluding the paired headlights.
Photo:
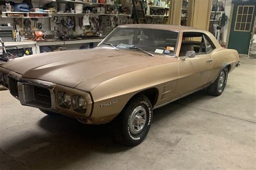
[[[22,105],[57,112],[65,116],[75,117],[82,123],[93,124],[93,122],[90,121],[93,102],[87,91],[42,80],[25,79],[22,78],[21,74],[11,72],[2,67],[0,67],[0,76],[0,84],[6,89],[9,89],[11,95],[17,98]],[[84,96],[87,101],[87,111],[84,114],[80,114],[73,110],[72,106],[69,109],[59,107],[56,102],[58,91],[65,91],[70,95]]]

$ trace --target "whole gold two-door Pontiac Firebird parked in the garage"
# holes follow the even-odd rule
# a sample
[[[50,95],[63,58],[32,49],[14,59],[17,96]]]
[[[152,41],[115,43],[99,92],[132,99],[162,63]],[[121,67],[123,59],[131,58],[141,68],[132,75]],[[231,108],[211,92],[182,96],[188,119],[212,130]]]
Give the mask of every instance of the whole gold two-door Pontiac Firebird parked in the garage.
[[[207,31],[136,24],[114,29],[93,49],[41,53],[6,62],[0,83],[22,105],[85,124],[112,125],[114,139],[140,144],[153,109],[206,88],[219,96],[238,52]]]

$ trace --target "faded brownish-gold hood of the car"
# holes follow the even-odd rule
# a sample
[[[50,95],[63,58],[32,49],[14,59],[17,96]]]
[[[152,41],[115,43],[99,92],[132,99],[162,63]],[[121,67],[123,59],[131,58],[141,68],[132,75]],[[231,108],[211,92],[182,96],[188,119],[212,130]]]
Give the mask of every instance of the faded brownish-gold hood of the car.
[[[2,67],[22,77],[49,81],[75,88],[88,81],[93,88],[112,77],[135,70],[176,61],[170,56],[149,56],[136,51],[116,51],[110,47],[41,53],[11,60]],[[97,83],[92,79],[97,79]],[[88,85],[88,84],[87,84]],[[84,90],[90,90],[90,89]]]

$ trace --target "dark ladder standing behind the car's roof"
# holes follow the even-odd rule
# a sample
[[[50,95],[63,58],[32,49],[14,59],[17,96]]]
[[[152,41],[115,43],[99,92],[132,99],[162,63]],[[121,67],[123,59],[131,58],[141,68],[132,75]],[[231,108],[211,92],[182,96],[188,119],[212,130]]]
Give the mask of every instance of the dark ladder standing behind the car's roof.
[[[139,3],[140,8],[136,8],[136,4]],[[136,20],[136,23],[143,23],[146,24],[145,18],[145,10],[143,7],[143,0],[132,0],[132,7],[133,7],[133,18]],[[140,22],[142,21],[142,22]]]

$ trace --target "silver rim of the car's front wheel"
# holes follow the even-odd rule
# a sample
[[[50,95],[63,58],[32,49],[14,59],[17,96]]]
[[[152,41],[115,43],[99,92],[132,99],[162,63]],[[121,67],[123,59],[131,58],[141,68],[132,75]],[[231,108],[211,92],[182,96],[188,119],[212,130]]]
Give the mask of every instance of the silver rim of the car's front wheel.
[[[130,120],[129,129],[132,134],[138,134],[143,130],[146,124],[147,112],[143,106],[133,109]]]

